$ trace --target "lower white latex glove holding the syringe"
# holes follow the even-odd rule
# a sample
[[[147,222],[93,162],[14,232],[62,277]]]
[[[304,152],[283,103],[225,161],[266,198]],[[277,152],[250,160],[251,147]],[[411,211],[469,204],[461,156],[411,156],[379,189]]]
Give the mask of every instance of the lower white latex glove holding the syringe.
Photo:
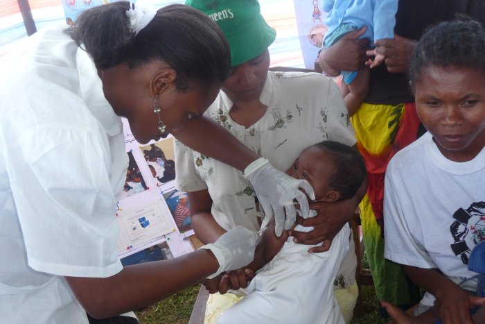
[[[242,268],[251,263],[258,238],[258,233],[243,226],[236,226],[221,235],[214,243],[201,246],[200,248],[211,250],[219,262],[218,271],[207,278],[214,278],[224,271]]]

